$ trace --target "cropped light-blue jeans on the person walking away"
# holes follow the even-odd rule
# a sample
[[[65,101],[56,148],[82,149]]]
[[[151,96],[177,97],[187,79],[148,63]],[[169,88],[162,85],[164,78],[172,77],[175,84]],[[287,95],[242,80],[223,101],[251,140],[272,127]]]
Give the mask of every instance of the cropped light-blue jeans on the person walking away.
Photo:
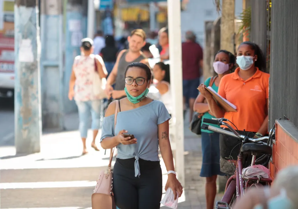
[[[81,134],[81,138],[87,138],[88,125],[89,125],[89,116],[91,113],[92,130],[97,130],[100,128],[100,104],[101,100],[94,101],[76,101],[77,108],[79,111],[79,131]]]

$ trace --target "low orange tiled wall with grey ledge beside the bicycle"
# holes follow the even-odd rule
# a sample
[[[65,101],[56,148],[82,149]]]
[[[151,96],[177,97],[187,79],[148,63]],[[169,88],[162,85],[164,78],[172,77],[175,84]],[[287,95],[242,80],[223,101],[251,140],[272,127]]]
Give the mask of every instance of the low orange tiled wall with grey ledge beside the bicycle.
[[[270,174],[272,179],[281,169],[298,165],[298,129],[290,121],[277,120],[275,124],[276,135],[272,149],[272,162]]]

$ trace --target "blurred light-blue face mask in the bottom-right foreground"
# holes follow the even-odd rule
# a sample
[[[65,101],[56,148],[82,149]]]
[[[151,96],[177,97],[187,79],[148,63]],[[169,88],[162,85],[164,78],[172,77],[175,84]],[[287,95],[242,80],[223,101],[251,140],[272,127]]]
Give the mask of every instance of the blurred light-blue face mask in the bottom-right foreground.
[[[268,209],[294,209],[294,205],[287,196],[285,189],[281,189],[280,195],[275,196],[268,200],[267,202]],[[254,209],[263,209],[263,206],[257,205]]]

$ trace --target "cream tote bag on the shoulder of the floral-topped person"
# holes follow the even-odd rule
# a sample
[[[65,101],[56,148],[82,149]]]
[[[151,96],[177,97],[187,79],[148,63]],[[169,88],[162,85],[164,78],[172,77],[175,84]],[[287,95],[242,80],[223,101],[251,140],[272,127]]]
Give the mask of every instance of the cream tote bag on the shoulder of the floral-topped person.
[[[99,55],[94,56],[94,66],[95,66],[95,72],[93,77],[93,93],[94,95],[98,96],[100,99],[107,98],[107,95],[105,94],[105,85],[107,84],[106,78],[100,78],[99,73],[97,71],[97,64],[95,57],[98,58],[100,64],[105,68],[105,63],[103,62],[103,58]]]

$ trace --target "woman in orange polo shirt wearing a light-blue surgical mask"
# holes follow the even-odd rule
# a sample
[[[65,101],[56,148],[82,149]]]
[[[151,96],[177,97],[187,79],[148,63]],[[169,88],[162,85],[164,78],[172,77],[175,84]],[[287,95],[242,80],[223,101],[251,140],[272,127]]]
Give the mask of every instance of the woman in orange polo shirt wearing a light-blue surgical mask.
[[[259,46],[246,41],[238,47],[236,63],[239,67],[235,72],[222,77],[218,94],[234,104],[237,112],[225,112],[219,107],[212,95],[205,90],[204,84],[199,86],[199,90],[206,98],[209,109],[216,118],[227,118],[240,132],[245,130],[257,135],[265,135],[268,131],[269,98],[269,74],[263,72],[266,68],[265,57]],[[229,146],[237,145],[239,140],[235,141],[234,138],[221,136],[220,146],[226,143]],[[239,149],[234,149],[233,152],[231,156],[233,160],[237,160]],[[224,156],[221,156],[221,161],[223,158]],[[221,171],[224,172],[222,163]],[[229,172],[226,173],[229,174]]]

